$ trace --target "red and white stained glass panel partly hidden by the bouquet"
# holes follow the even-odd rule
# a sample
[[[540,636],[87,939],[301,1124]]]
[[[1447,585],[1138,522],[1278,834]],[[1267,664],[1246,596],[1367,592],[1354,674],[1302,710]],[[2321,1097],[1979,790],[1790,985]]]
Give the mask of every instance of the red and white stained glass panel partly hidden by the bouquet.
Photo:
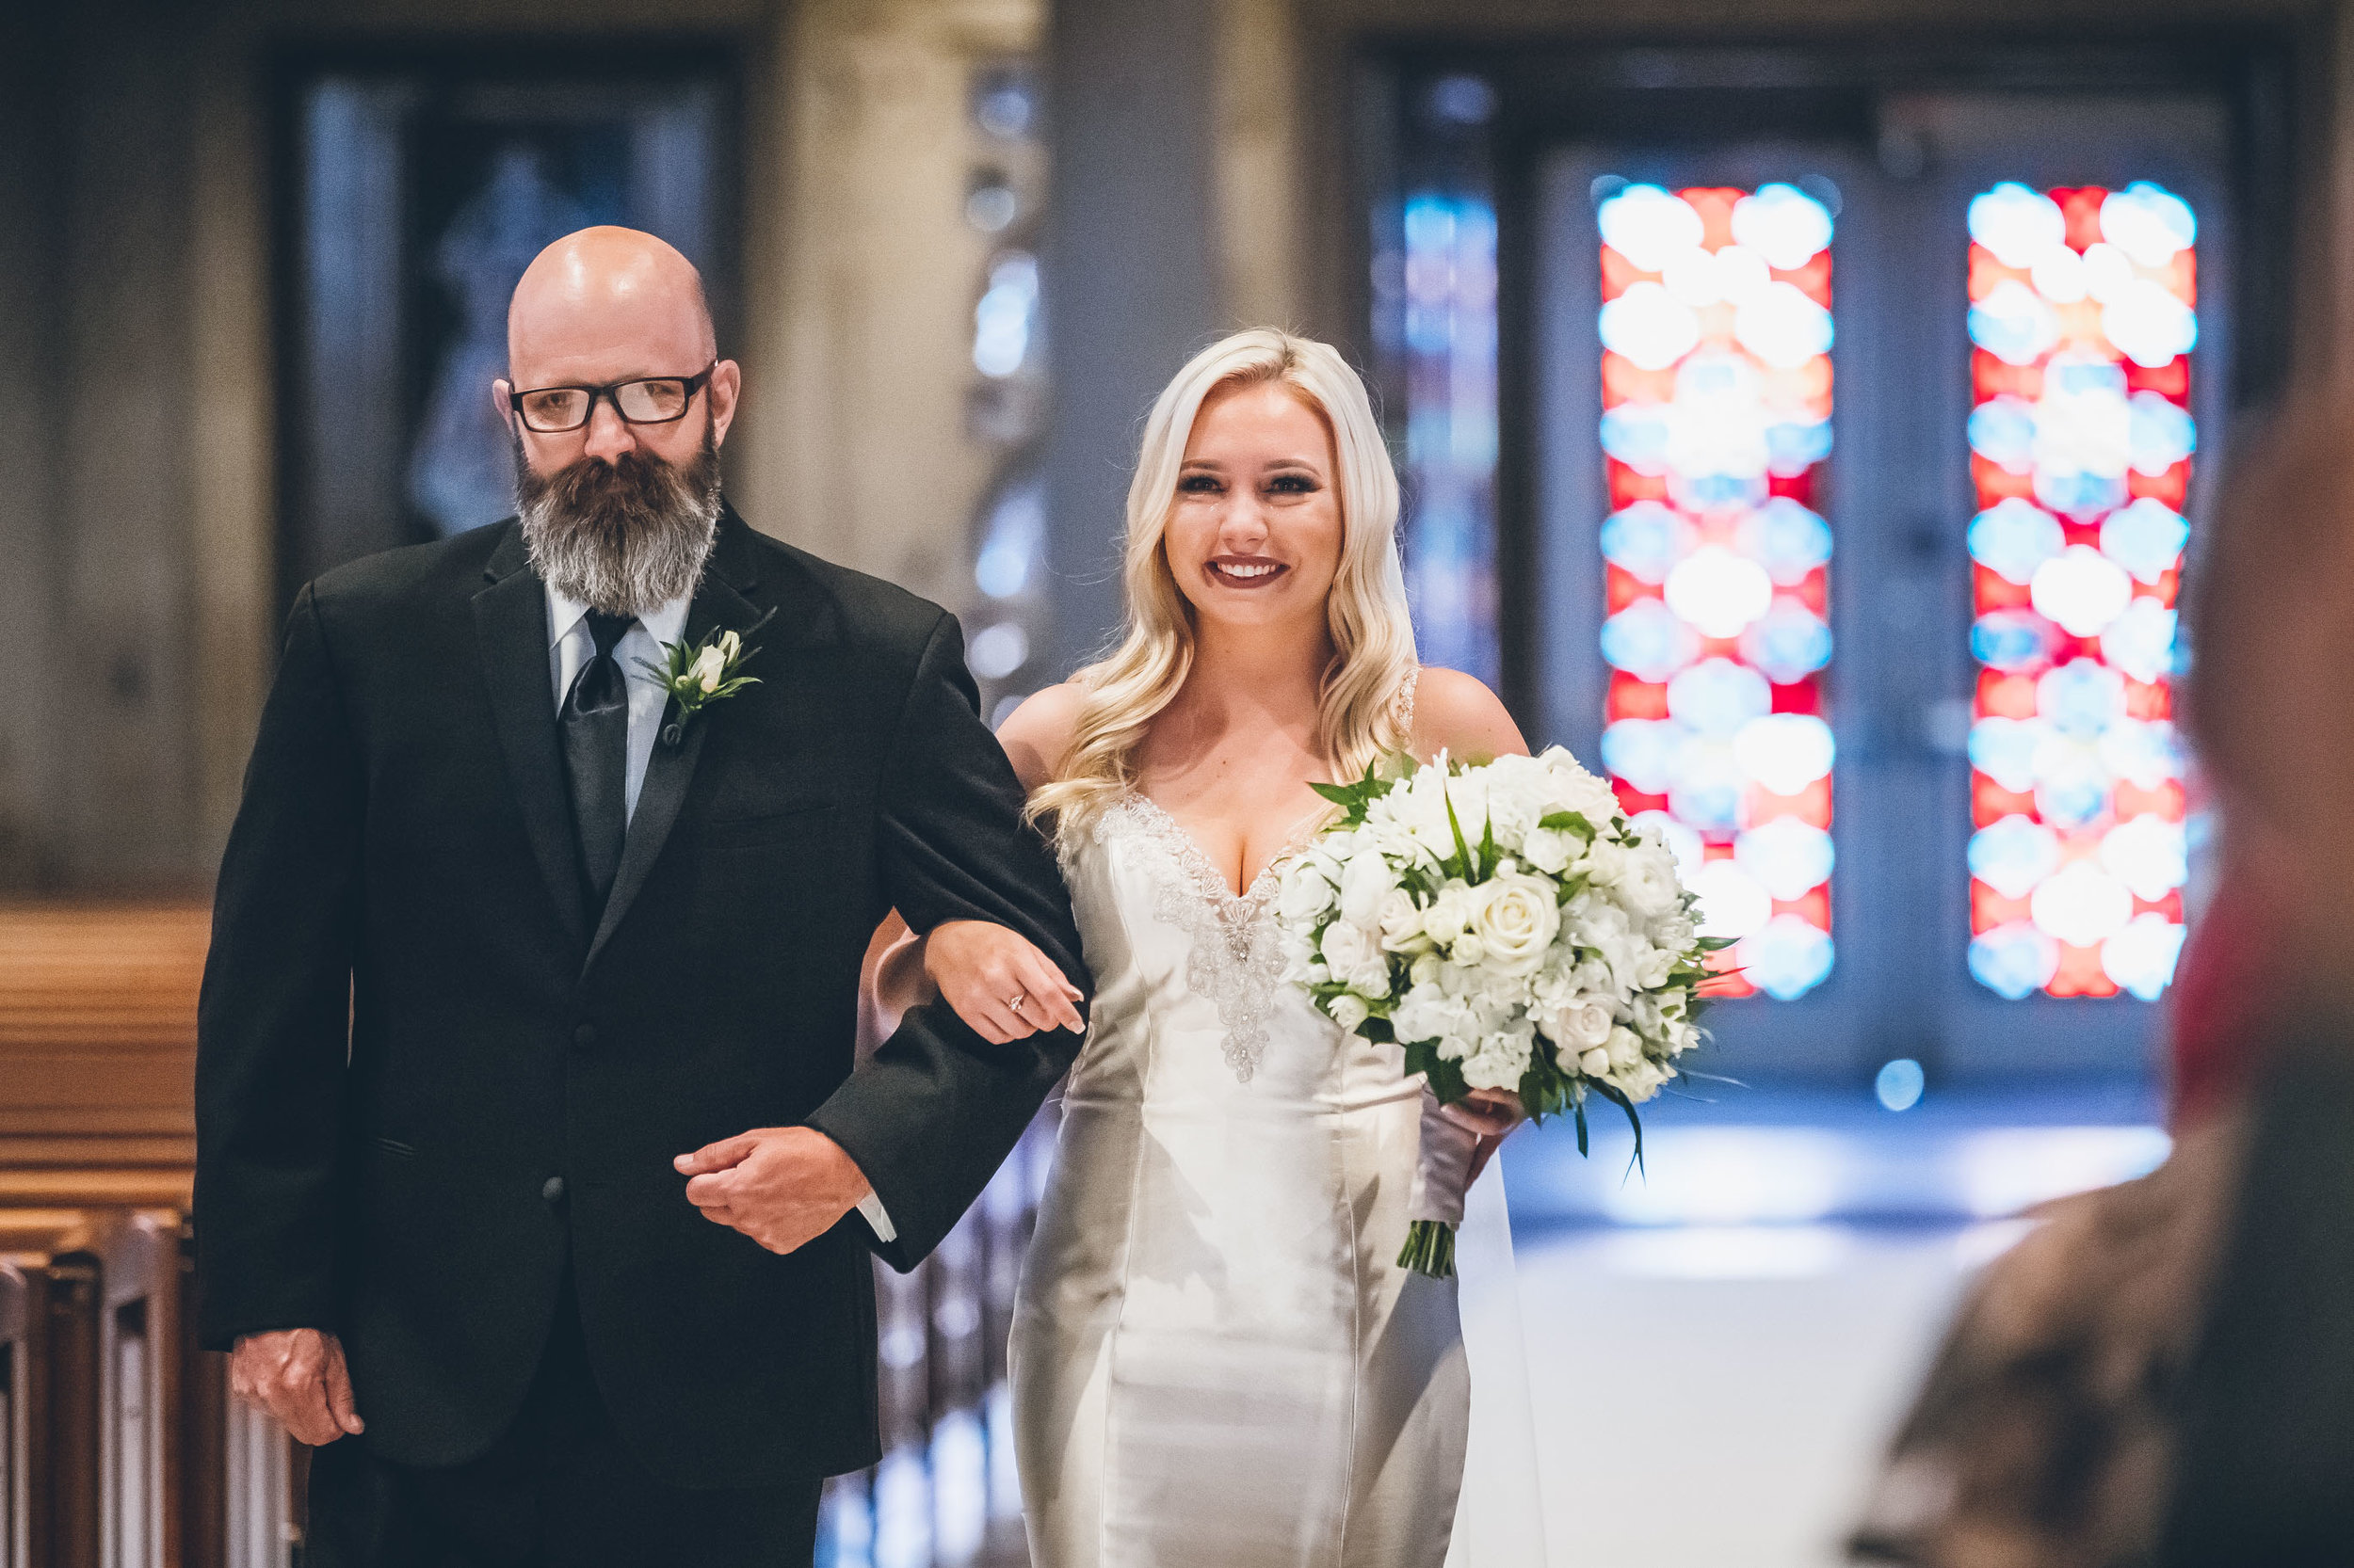
[[[1740,994],[1831,972],[1831,207],[1605,181],[1601,756],[1737,937]]]

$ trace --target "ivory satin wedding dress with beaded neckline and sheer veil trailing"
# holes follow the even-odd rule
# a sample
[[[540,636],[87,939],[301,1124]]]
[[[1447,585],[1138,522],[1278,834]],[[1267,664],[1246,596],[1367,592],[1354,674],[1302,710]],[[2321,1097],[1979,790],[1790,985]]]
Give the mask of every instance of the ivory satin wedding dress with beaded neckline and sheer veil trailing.
[[[1283,982],[1276,869],[1236,897],[1135,793],[1073,838],[1097,989],[1012,1328],[1036,1568],[1540,1568],[1499,1177],[1459,1278],[1401,1269],[1422,1081]]]

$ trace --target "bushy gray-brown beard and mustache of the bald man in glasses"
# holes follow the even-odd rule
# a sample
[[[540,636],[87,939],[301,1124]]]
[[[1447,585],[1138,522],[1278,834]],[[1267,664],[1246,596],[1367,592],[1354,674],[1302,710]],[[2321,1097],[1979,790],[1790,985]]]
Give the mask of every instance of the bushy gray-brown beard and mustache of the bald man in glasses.
[[[591,610],[650,614],[694,591],[720,525],[720,454],[704,445],[687,464],[624,452],[532,473],[516,438],[516,513],[541,582]]]

